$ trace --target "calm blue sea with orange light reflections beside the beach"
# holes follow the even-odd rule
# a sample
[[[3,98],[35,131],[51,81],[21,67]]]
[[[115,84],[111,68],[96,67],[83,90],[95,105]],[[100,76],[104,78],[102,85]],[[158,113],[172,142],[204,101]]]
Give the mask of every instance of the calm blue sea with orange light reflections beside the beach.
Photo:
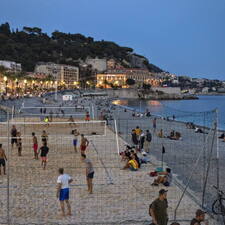
[[[199,96],[198,100],[146,101],[116,100],[116,104],[128,106],[136,111],[150,111],[154,115],[170,117],[176,120],[194,122],[212,127],[216,118],[214,109],[218,109],[219,128],[225,130],[225,96]]]

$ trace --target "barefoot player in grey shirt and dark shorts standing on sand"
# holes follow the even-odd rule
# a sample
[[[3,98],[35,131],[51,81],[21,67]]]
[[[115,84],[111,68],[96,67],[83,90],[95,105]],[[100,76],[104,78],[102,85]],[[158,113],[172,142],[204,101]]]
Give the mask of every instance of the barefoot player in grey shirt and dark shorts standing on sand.
[[[86,164],[86,179],[88,186],[88,193],[93,194],[93,178],[94,178],[94,168],[90,159],[86,158],[85,154],[81,154],[81,160]]]

